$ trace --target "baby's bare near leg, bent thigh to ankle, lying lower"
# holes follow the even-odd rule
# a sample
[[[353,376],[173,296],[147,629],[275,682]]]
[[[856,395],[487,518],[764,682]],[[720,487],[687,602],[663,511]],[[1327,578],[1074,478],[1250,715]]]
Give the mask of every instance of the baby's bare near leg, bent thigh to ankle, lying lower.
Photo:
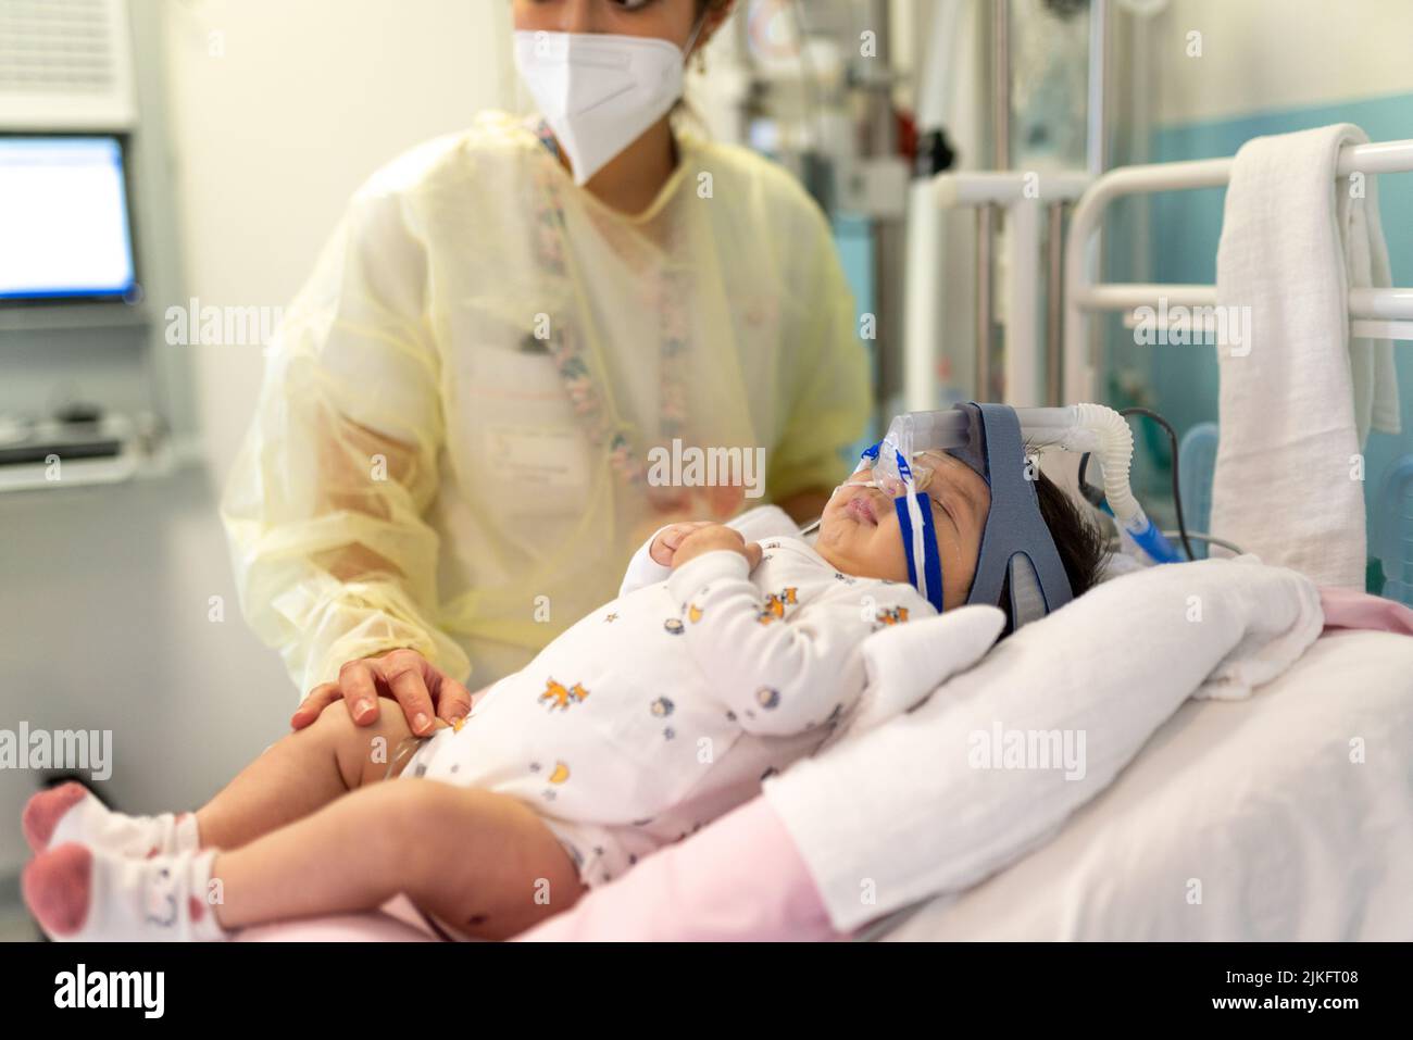
[[[212,878],[226,928],[373,910],[406,893],[468,935],[509,938],[582,893],[568,853],[530,807],[435,780],[338,798],[219,853]]]

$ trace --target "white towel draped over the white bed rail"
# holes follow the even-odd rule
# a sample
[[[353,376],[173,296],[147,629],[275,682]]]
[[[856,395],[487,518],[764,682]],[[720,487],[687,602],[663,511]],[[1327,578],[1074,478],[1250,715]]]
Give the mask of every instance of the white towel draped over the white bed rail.
[[[1232,165],[1217,301],[1251,308],[1219,345],[1212,530],[1317,584],[1364,588],[1362,451],[1399,430],[1388,341],[1351,341],[1351,285],[1390,284],[1376,182],[1338,179],[1349,124],[1248,141]]]

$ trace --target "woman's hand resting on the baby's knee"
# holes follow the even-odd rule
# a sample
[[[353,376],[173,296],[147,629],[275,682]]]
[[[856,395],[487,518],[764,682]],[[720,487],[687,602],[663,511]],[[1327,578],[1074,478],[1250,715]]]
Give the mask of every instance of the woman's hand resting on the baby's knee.
[[[294,712],[290,725],[304,729],[319,718],[319,712],[338,699],[348,705],[349,715],[359,726],[377,721],[377,698],[397,701],[407,716],[407,725],[417,736],[428,736],[437,719],[459,725],[471,711],[471,691],[442,674],[415,650],[391,650],[382,657],[349,661],[339,668],[336,682],[325,682],[309,691]]]

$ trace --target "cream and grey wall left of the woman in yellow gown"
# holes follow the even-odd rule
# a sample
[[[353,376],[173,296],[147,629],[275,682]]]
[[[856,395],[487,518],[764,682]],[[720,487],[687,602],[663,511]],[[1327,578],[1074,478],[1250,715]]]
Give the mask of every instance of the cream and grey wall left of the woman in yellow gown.
[[[369,174],[502,102],[507,10],[482,0],[164,3],[184,295],[285,307]],[[216,513],[261,349],[154,349],[189,352],[202,432],[189,465],[3,503],[0,613],[14,618],[0,639],[6,690],[18,691],[31,726],[110,729],[105,793],[134,811],[213,794],[280,735],[295,701],[278,656],[239,618]],[[222,623],[208,616],[212,596]],[[13,728],[14,712],[4,715]],[[0,926],[34,790],[28,772],[0,770]]]

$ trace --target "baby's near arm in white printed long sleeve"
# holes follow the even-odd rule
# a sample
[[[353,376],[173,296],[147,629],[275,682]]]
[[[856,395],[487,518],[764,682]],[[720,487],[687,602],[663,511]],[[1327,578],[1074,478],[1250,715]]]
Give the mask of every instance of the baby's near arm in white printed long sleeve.
[[[862,692],[858,647],[877,625],[877,586],[832,593],[784,620],[749,574],[742,552],[712,551],[678,567],[667,588],[682,605],[692,658],[742,728],[800,733]]]

